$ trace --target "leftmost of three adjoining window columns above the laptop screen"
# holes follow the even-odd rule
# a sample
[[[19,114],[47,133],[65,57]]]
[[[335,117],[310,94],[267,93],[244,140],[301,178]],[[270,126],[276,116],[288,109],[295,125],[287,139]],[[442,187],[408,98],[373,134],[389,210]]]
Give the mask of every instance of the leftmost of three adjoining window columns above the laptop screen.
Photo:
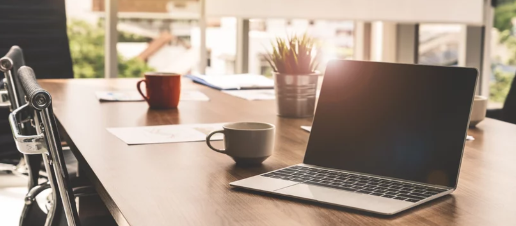
[[[353,59],[369,60],[371,54],[371,23],[354,22],[353,25]]]

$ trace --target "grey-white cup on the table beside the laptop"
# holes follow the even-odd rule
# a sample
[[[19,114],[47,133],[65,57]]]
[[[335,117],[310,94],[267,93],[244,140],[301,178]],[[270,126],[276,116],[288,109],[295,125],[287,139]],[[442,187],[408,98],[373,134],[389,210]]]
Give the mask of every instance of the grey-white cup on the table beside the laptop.
[[[260,165],[272,154],[276,127],[268,123],[228,123],[206,136],[206,144],[214,151],[227,154],[237,165]],[[224,149],[214,148],[210,138],[224,134]]]

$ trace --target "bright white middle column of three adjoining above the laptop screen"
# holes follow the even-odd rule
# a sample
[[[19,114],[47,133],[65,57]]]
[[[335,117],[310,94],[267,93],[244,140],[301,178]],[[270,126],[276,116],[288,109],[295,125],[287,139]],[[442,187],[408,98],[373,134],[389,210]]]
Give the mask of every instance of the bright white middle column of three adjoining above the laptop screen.
[[[396,23],[372,23],[370,60],[396,62],[396,33]]]

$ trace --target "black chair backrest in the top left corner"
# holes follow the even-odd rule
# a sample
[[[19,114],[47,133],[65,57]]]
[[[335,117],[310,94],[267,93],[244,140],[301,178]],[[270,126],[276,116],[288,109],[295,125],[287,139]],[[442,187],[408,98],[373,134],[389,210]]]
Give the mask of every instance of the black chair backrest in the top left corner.
[[[65,0],[0,1],[0,53],[23,47],[38,78],[72,78]]]

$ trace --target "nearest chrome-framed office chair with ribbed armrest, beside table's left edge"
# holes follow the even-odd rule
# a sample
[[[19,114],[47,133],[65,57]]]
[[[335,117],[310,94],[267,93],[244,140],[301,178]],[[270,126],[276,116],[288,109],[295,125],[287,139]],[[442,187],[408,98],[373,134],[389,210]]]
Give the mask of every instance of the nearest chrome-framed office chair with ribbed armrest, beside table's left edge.
[[[65,167],[61,140],[53,113],[52,97],[39,86],[32,68],[22,66],[18,73],[28,102],[11,112],[9,124],[18,150],[27,155],[41,155],[48,172],[53,205],[44,225],[117,225],[111,216],[79,220],[75,195]],[[34,120],[34,125],[39,125],[35,127],[34,134],[21,133],[20,119],[24,114]],[[21,222],[20,225],[34,225],[29,223],[32,219],[24,220],[25,222]]]

